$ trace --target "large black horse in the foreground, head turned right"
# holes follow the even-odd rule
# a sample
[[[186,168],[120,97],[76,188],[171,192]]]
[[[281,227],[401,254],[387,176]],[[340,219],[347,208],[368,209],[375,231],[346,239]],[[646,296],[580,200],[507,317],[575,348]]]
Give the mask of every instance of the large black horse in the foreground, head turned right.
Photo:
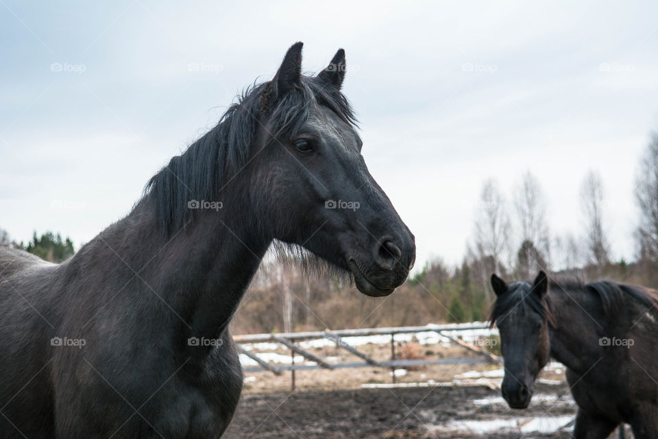
[[[1,438],[221,436],[243,383],[227,325],[275,240],[368,296],[405,280],[413,235],[361,156],[345,54],[301,61],[296,43],[68,261],[0,251]]]

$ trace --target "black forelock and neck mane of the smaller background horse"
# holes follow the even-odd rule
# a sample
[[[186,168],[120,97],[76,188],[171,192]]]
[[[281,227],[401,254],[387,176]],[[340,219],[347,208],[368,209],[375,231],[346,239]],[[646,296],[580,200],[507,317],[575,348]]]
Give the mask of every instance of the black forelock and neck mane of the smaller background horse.
[[[509,286],[507,292],[498,296],[489,314],[491,327],[517,306],[524,310],[535,311],[555,327],[557,322],[550,308],[550,292],[558,292],[558,294],[560,292],[564,294],[583,292],[596,296],[606,315],[623,309],[627,305],[627,298],[639,302],[648,309],[653,309],[658,305],[658,293],[653,289],[613,281],[585,283],[581,278],[573,275],[551,276],[548,281],[549,294],[546,294],[544,298],[539,297],[538,294],[532,294],[532,288],[533,284],[530,281],[515,282]]]

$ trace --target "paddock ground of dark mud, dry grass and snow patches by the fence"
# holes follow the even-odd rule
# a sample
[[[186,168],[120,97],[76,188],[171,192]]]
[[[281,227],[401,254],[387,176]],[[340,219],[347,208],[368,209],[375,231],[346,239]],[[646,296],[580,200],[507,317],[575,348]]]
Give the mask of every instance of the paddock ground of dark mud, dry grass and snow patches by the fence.
[[[385,346],[362,349],[378,358],[389,353]],[[316,351],[321,357],[353,361],[345,357],[345,351],[334,348]],[[459,346],[424,354],[478,357]],[[526,410],[512,410],[500,397],[496,384],[500,385],[501,367],[462,363],[405,370],[396,381],[398,385],[419,384],[409,388],[371,388],[391,384],[391,370],[381,368],[298,370],[294,392],[291,372],[278,377],[271,372],[245,372],[243,396],[223,438],[570,438],[576,405],[561,365],[541,372]],[[479,384],[478,379],[487,382]],[[544,422],[553,425],[552,420],[557,420],[558,427],[528,428]],[[611,435],[616,437],[616,433]],[[630,431],[626,438],[632,438]]]

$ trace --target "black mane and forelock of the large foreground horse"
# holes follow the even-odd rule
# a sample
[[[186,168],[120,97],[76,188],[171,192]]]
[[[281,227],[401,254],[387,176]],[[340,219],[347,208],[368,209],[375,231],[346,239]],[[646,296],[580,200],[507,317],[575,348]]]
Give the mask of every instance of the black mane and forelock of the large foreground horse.
[[[258,126],[272,137],[292,136],[315,106],[326,106],[345,123],[356,127],[348,99],[337,88],[324,86],[302,75],[300,83],[271,108],[263,108],[261,96],[271,93],[271,82],[245,88],[219,119],[217,126],[193,142],[180,156],[147,182],[142,200],[154,203],[158,224],[165,235],[193,219],[196,209],[189,200],[216,200],[226,182],[247,165]],[[267,119],[263,116],[266,116]]]

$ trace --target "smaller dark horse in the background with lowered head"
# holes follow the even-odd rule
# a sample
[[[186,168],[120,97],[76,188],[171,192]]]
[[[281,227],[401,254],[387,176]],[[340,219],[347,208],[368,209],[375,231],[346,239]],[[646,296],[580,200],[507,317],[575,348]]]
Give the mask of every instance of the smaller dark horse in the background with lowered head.
[[[539,370],[567,367],[578,404],[574,438],[607,438],[628,423],[637,439],[658,438],[658,295],[652,289],[576,278],[507,285],[493,274],[491,324],[500,330],[502,396],[528,407]]]

